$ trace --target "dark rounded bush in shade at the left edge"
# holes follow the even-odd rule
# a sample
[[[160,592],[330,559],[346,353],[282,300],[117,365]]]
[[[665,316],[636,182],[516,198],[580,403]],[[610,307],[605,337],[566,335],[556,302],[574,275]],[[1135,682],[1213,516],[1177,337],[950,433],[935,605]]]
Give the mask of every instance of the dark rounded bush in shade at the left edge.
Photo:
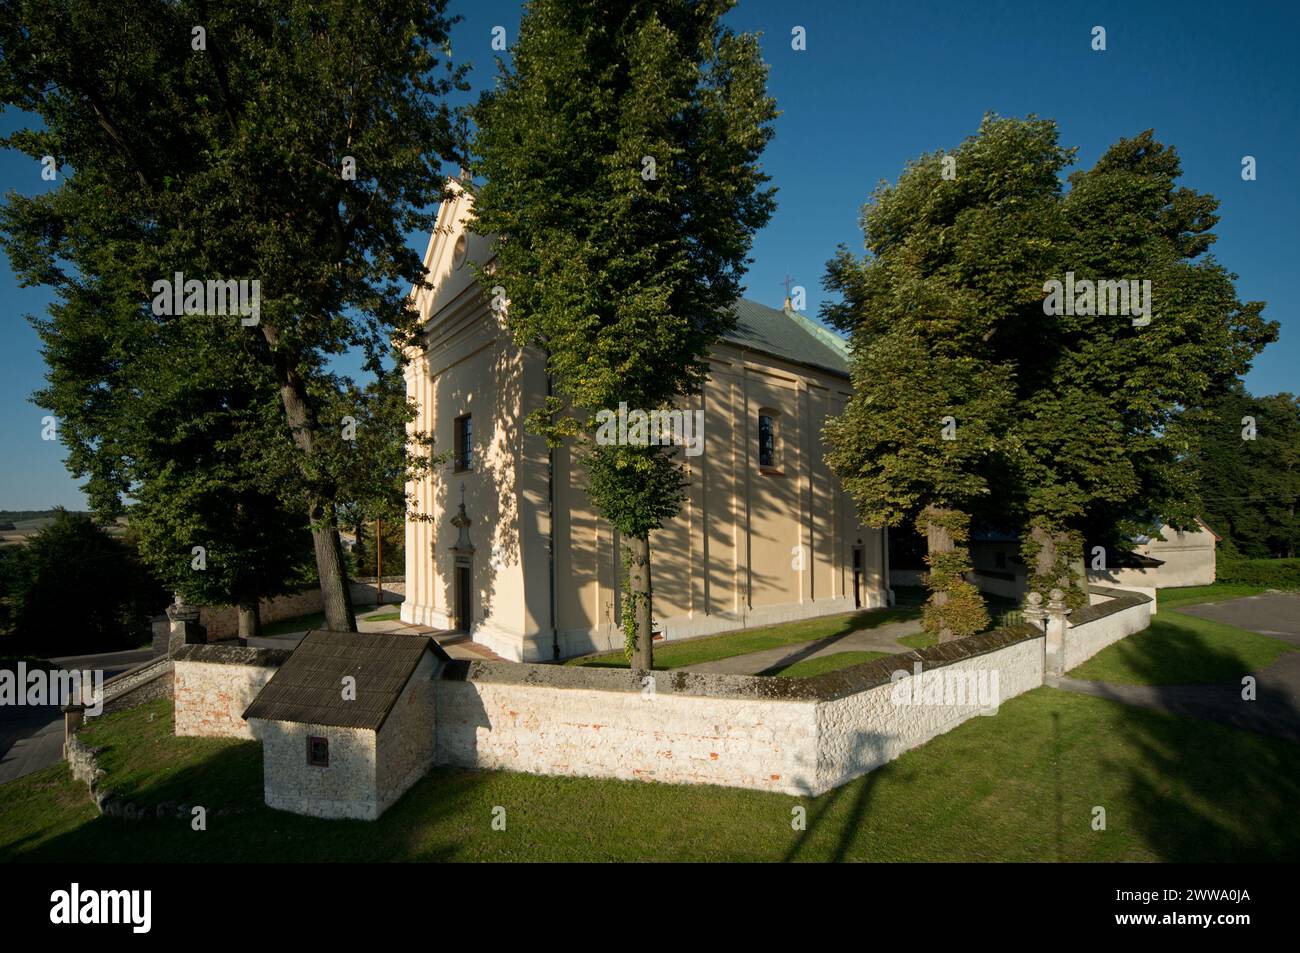
[[[12,625],[0,655],[42,658],[134,649],[150,638],[150,616],[169,602],[130,541],[61,510],[5,553],[0,597]]]

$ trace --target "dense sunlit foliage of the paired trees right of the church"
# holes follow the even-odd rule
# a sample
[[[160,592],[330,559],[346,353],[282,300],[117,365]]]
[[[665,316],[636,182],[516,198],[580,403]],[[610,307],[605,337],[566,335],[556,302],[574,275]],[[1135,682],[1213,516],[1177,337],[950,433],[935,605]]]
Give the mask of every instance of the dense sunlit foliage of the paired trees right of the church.
[[[1062,559],[1074,533],[1114,545],[1156,519],[1191,525],[1188,420],[1277,337],[1205,255],[1217,202],[1175,185],[1178,155],[1149,131],[1069,191],[1075,151],[1049,120],[985,117],[949,155],[956,178],[936,152],[876,189],[866,256],[828,264],[842,300],[823,313],[853,334],[854,397],[826,426],[827,459],[863,519],[954,507],[1023,537],[1037,517]],[[1045,283],[1066,272],[1149,280],[1150,324],[1044,313]]]

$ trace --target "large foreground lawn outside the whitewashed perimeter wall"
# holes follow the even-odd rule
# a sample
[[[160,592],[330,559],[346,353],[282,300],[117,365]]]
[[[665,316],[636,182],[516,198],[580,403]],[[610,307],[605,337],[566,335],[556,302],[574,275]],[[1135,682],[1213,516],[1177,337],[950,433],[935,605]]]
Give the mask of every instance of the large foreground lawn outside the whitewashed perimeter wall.
[[[438,770],[374,823],[272,811],[257,742],[170,731],[164,699],[87,737],[110,788],[208,806],[207,831],[100,818],[57,766],[0,785],[0,861],[1300,859],[1300,746],[1050,688],[818,798]]]

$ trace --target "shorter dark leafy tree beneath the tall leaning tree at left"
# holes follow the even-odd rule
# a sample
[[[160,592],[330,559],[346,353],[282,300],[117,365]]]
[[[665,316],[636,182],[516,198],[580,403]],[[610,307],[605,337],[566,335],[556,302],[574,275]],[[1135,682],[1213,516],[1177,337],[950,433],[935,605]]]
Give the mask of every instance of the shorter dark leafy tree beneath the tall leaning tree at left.
[[[49,371],[35,400],[64,423],[70,465],[103,468],[100,519],[129,510],[157,577],[191,603],[235,605],[255,636],[259,601],[300,586],[312,553],[276,381],[237,324],[157,322],[105,286],[61,287],[36,321]]]

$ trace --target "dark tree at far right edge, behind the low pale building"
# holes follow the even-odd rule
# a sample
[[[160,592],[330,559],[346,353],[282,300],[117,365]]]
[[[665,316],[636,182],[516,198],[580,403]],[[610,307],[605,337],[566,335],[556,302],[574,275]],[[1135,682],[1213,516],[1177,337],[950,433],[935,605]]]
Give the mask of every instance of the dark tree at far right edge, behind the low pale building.
[[[1202,410],[1191,426],[1205,520],[1243,556],[1294,558],[1300,550],[1300,398],[1252,397],[1238,384]]]

